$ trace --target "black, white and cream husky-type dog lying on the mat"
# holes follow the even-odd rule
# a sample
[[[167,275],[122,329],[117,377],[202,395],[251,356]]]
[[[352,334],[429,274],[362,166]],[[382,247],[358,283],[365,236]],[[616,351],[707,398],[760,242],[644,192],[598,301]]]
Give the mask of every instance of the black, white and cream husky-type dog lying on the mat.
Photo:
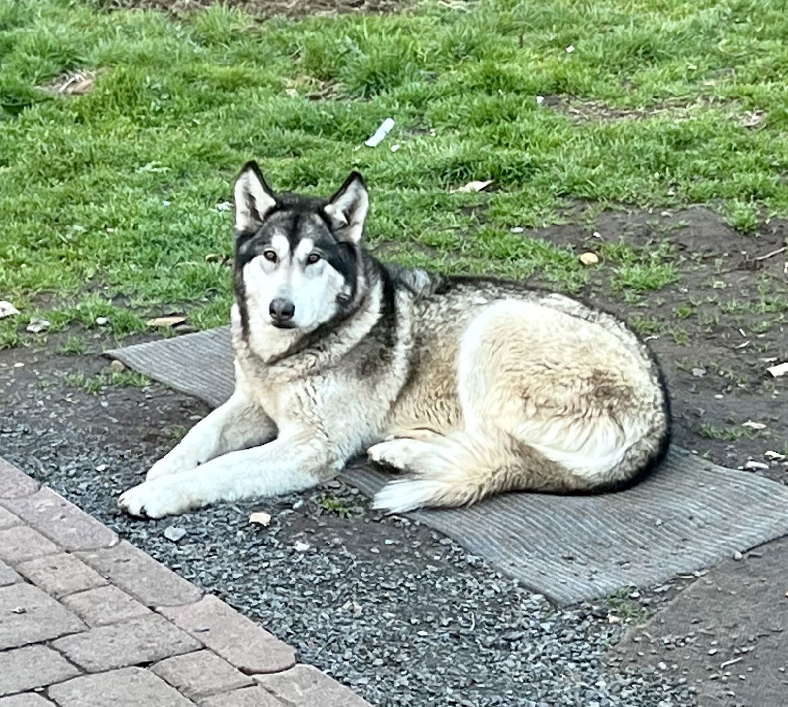
[[[236,390],[121,495],[159,518],[314,487],[364,450],[403,472],[388,511],[507,490],[596,493],[664,456],[645,344],[608,313],[521,283],[382,265],[352,173],[328,200],[235,187]]]

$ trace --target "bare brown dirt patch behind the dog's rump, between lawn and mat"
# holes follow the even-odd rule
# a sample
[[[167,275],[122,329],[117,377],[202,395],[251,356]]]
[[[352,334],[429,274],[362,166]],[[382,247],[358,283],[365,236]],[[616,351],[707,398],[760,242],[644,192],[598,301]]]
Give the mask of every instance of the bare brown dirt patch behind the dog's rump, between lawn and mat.
[[[619,266],[602,257],[579,296],[649,340],[670,387],[675,441],[721,465],[764,465],[753,472],[788,483],[788,376],[767,371],[788,361],[788,220],[771,220],[755,236],[702,208],[605,211],[578,220],[582,214],[574,224],[523,235],[571,245],[578,256],[600,252],[603,243],[671,245],[676,283],[615,291]]]

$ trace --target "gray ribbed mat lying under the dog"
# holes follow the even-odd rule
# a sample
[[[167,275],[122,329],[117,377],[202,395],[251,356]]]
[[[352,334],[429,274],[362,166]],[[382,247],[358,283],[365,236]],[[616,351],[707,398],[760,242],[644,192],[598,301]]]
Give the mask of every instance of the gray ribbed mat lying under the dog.
[[[232,393],[229,329],[108,352],[178,391],[221,405]],[[364,494],[386,475],[346,470]],[[407,514],[557,602],[649,587],[788,533],[788,489],[674,448],[634,489],[603,496],[505,494],[470,509]]]

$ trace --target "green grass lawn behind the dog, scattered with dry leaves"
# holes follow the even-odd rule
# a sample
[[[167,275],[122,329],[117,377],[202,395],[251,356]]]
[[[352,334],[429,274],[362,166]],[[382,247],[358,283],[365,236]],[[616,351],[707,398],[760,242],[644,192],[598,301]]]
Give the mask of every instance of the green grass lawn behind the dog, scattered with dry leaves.
[[[22,311],[0,321],[0,347],[29,316],[52,331],[107,316],[113,335],[166,305],[226,321],[229,272],[205,256],[232,250],[217,205],[251,157],[275,187],[324,194],[360,169],[370,241],[405,264],[569,291],[589,277],[571,250],[511,228],[578,199],[703,203],[745,232],[788,214],[784,0],[430,0],[263,24],[221,6],[185,20],[101,7],[0,3],[0,297]],[[100,72],[89,94],[37,88],[77,69]],[[332,99],[307,98],[326,85]],[[576,123],[537,104],[554,94],[618,113]],[[385,143],[362,146],[387,116]],[[449,193],[487,179],[497,191]],[[674,280],[658,258],[620,262],[611,286]]]

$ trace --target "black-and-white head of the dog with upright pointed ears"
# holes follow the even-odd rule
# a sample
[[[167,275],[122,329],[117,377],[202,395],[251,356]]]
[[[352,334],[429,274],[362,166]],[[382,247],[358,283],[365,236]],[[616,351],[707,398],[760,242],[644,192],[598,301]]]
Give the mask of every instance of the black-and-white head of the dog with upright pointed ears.
[[[355,298],[369,205],[361,175],[329,199],[275,194],[249,162],[235,199],[236,290],[266,324],[314,331]]]

